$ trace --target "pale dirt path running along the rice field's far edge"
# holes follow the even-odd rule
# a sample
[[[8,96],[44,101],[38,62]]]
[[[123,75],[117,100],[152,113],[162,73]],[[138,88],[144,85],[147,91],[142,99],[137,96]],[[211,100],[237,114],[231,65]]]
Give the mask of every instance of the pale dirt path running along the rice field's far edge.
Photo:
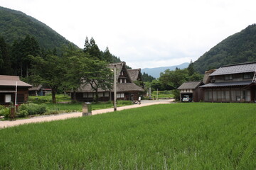
[[[171,103],[172,101],[173,100],[142,101],[141,105],[136,104],[136,105],[131,105],[131,106],[122,106],[122,107],[118,107],[117,111],[122,111],[124,109],[129,109],[129,108],[139,108],[142,106],[156,105],[156,104],[168,104],[168,103]],[[113,110],[114,110],[113,108],[96,110],[96,111],[92,111],[92,115],[109,113],[109,112],[112,112]],[[6,121],[0,121],[0,128],[7,128],[7,127],[11,127],[11,126],[26,124],[26,123],[39,123],[39,122],[49,122],[49,121],[53,121],[53,120],[63,120],[63,119],[68,119],[68,118],[81,117],[81,116],[82,116],[82,112],[75,112],[75,113],[64,113],[64,114],[60,114],[60,115],[38,116],[35,118],[15,120],[15,121],[6,120]]]

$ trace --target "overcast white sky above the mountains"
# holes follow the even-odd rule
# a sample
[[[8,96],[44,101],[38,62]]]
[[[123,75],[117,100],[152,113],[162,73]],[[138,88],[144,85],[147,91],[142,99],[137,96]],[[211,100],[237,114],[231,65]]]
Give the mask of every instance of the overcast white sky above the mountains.
[[[132,68],[197,60],[221,40],[256,23],[255,0],[0,0],[83,47],[100,47]],[[1,24],[1,23],[0,23]]]

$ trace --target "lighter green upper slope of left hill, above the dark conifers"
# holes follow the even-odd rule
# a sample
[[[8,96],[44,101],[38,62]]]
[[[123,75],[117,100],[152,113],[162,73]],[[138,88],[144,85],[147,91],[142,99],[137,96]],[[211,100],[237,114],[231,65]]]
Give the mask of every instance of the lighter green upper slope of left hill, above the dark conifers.
[[[9,44],[12,44],[14,40],[26,38],[26,35],[35,37],[39,45],[45,49],[55,47],[59,50],[62,45],[70,43],[46,24],[21,11],[0,6],[0,23],[0,37]]]

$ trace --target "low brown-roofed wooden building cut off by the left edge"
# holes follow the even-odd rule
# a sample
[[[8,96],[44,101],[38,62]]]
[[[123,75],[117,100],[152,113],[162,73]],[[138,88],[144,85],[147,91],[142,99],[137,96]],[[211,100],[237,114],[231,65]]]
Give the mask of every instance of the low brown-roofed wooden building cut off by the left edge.
[[[0,104],[9,105],[15,103],[17,84],[17,103],[25,103],[28,101],[28,88],[30,84],[26,84],[16,76],[0,75]]]

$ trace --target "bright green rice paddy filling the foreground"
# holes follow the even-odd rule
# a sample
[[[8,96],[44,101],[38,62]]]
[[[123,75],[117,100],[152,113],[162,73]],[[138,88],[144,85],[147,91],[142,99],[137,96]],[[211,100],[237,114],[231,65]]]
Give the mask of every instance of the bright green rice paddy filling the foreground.
[[[256,169],[254,103],[176,103],[0,130],[0,169]]]

